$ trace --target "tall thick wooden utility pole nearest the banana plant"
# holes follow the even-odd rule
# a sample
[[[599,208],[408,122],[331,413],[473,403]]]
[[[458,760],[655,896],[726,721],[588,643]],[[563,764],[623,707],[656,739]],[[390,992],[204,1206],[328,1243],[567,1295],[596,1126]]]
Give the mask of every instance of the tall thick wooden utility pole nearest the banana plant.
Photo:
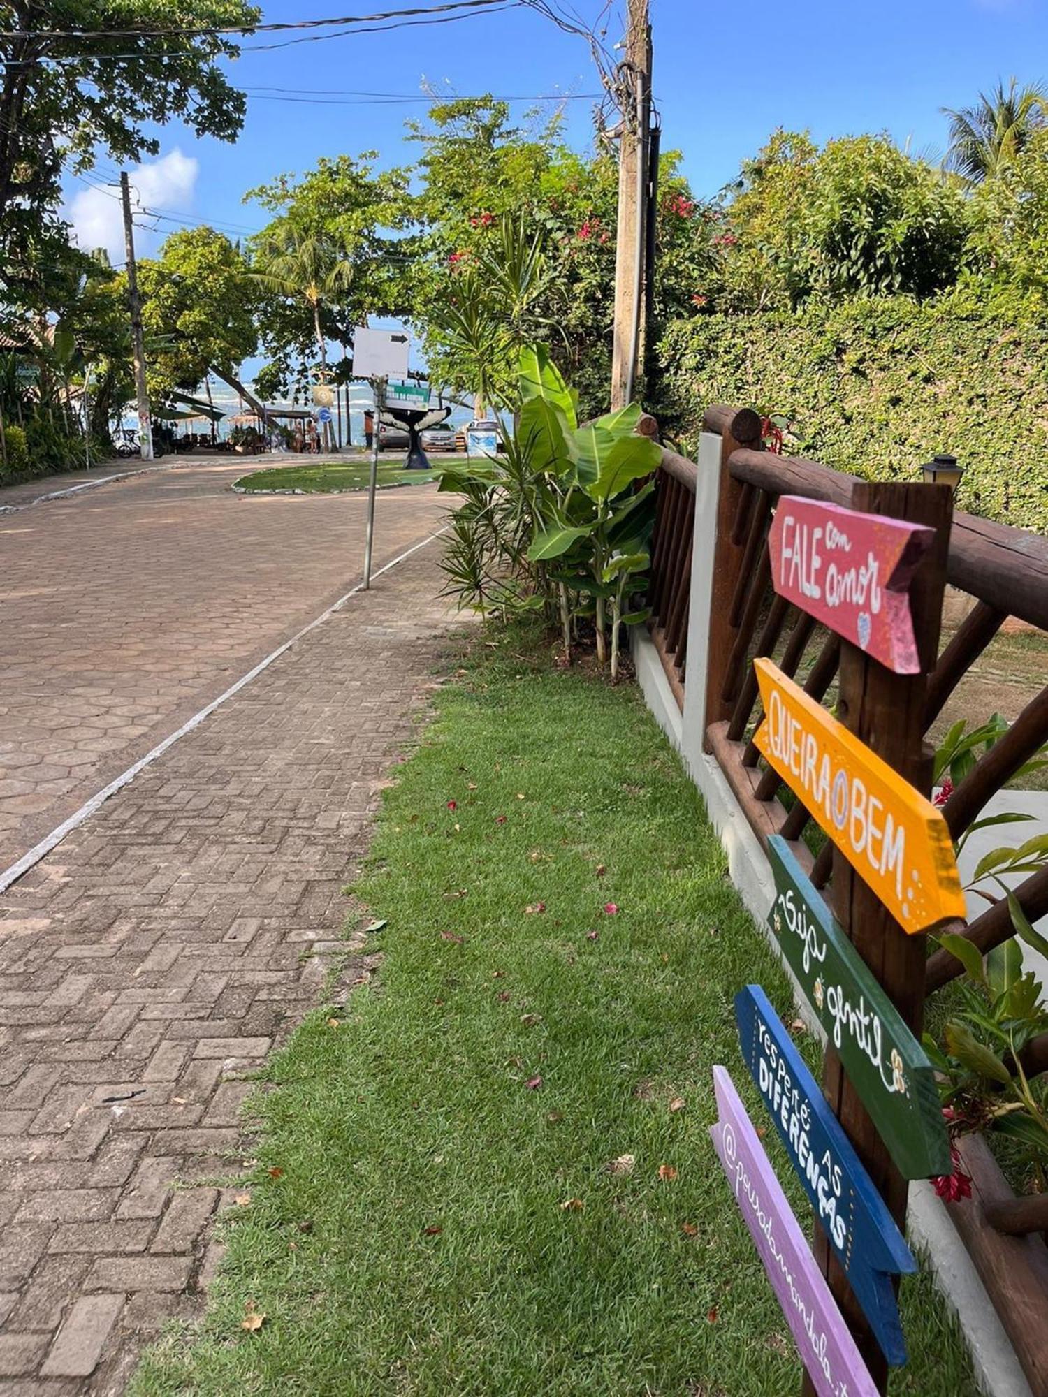
[[[647,240],[648,123],[651,119],[651,24],[648,0],[629,0],[626,59],[618,70],[619,218],[615,237],[615,327],[612,411],[634,395],[644,339],[644,244]]]

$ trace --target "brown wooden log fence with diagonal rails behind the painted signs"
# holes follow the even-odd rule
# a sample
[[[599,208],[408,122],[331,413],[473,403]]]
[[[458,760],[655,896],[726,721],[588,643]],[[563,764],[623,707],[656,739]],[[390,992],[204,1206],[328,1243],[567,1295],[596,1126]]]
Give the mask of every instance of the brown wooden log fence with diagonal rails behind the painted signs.
[[[753,658],[774,657],[785,675],[802,676],[798,682],[816,701],[833,697],[840,638],[773,591],[767,535],[781,495],[864,509],[868,486],[816,461],[762,450],[760,418],[750,409],[711,408],[704,426],[721,439],[710,616],[694,619],[708,624],[704,747],[764,848],[770,835],[781,835],[815,886],[826,887],[833,869],[831,845],[812,855],[803,838],[812,819],[808,809],[798,799],[781,799],[783,782],[753,743],[762,718]],[[664,450],[653,543],[651,634],[682,711],[696,479],[693,462]],[[974,604],[947,643],[939,648],[936,641],[933,647],[929,673],[921,680],[922,714],[917,731],[925,733],[1009,616],[1048,631],[1048,542],[1023,529],[957,513],[949,536],[946,581]],[[933,636],[938,634],[936,615]],[[694,712],[693,696],[689,708]],[[973,725],[988,717],[973,715]],[[946,800],[943,816],[954,841],[1045,742],[1048,687],[1027,703],[1006,735],[978,757]],[[929,763],[926,747],[928,777]],[[912,773],[904,774],[912,780]],[[925,789],[928,784],[924,782]],[[833,901],[831,887],[829,897]],[[1031,922],[1048,914],[1048,869],[1026,877],[1016,897]],[[961,933],[984,953],[1013,936],[1003,898],[970,923],[956,922],[946,929]],[[932,993],[960,972],[956,957],[933,951],[926,963],[925,992]],[[1048,1035],[1028,1046],[1024,1066],[1031,1076],[1048,1070]],[[963,1139],[959,1148],[963,1166],[974,1179],[974,1197],[950,1204],[949,1215],[1034,1393],[1048,1393],[1048,1194],[1017,1199],[980,1137]]]

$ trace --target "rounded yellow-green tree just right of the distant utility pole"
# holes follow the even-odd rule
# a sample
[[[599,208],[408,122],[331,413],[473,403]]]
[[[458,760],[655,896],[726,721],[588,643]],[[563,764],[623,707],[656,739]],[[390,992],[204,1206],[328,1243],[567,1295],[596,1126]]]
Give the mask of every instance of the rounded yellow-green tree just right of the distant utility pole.
[[[245,397],[240,362],[257,351],[259,289],[239,247],[212,228],[172,233],[159,257],[138,264],[150,390],[191,391],[208,370]]]

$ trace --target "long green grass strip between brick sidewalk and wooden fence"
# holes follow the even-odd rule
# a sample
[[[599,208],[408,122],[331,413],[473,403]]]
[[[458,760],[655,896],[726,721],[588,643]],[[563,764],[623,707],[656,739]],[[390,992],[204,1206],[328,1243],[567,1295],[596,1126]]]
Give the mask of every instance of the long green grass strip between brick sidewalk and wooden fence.
[[[732,996],[760,981],[788,1011],[785,979],[637,690],[490,644],[354,888],[388,919],[380,974],[271,1062],[207,1320],[136,1397],[799,1391],[707,1134],[717,1062],[766,1123]],[[974,1394],[926,1278],[903,1312],[891,1391]]]

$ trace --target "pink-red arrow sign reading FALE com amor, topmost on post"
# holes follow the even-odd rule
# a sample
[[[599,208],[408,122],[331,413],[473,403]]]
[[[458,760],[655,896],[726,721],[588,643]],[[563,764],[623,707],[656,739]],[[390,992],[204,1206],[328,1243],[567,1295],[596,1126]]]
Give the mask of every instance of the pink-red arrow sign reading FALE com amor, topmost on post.
[[[784,495],[769,532],[776,591],[897,675],[921,662],[910,578],[935,531]]]

